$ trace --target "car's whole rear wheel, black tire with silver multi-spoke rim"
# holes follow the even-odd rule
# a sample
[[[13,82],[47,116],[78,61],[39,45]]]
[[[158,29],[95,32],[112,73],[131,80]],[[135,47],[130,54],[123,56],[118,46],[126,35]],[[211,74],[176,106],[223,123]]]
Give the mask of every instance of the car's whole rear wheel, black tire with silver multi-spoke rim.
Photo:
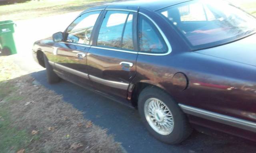
[[[164,143],[178,144],[192,132],[178,104],[158,88],[142,90],[138,98],[138,109],[148,131]]]

